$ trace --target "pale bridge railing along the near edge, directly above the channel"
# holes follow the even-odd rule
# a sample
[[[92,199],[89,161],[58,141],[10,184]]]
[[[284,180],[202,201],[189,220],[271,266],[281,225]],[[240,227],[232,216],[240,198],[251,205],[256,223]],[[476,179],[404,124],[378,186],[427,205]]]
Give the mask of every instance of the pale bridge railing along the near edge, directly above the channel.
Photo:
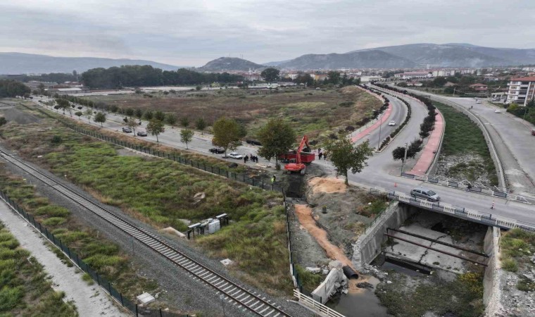
[[[473,209],[467,209],[465,207],[453,206],[451,204],[443,204],[441,202],[430,202],[424,201],[417,198],[407,196],[405,194],[400,194],[393,190],[388,190],[384,188],[370,188],[370,194],[382,195],[388,197],[389,199],[396,199],[405,204],[410,204],[412,206],[422,207],[424,209],[436,211],[439,213],[446,213],[457,218],[465,218],[467,220],[472,220],[477,223],[482,223],[484,225],[491,225],[500,227],[503,229],[513,229],[520,228],[522,230],[527,230],[535,232],[535,224],[533,223],[524,223],[511,218],[506,218],[502,216],[496,216],[492,213],[482,213],[480,211],[475,211]]]

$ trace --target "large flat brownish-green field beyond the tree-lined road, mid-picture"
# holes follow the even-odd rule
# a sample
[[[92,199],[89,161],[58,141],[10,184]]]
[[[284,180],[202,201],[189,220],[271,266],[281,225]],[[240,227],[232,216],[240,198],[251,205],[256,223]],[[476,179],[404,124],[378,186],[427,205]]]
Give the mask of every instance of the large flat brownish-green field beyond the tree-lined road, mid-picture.
[[[215,92],[182,92],[179,94],[127,94],[84,97],[120,108],[140,108],[175,113],[193,123],[204,118],[210,125],[221,116],[230,116],[246,124],[248,135],[270,118],[287,120],[298,135],[322,139],[370,116],[381,102],[355,87],[334,90],[287,89],[268,90],[228,89]],[[357,127],[358,128],[358,127]]]

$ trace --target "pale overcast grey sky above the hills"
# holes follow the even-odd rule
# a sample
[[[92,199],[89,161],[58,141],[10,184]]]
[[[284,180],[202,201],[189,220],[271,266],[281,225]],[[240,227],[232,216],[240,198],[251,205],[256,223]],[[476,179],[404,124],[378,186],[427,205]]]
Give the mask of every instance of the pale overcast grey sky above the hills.
[[[0,51],[203,66],[413,43],[535,49],[533,0],[1,0]]]

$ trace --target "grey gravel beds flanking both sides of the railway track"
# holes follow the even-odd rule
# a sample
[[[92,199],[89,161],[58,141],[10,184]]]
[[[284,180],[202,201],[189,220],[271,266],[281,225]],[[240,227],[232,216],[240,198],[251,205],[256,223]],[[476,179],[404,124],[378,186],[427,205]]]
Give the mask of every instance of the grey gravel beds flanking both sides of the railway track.
[[[6,149],[5,147],[2,148]],[[30,163],[29,161],[26,162]],[[70,182],[65,182],[63,178],[58,178],[56,175],[49,173],[47,170],[40,168],[35,164],[30,163],[30,166],[41,170],[45,175],[48,175],[57,182],[60,182],[62,185],[73,189],[78,194],[92,200],[99,206],[117,213],[122,218],[139,225],[141,228],[145,228],[156,235],[160,235],[160,237],[163,237],[163,239],[172,247],[179,249],[192,259],[201,261],[203,265],[208,266],[208,268],[221,275],[224,275],[225,278],[228,278],[234,282],[238,282],[239,285],[243,285],[249,289],[255,290],[253,287],[244,285],[244,282],[239,281],[232,273],[227,271],[227,269],[218,261],[218,259],[208,258],[200,249],[197,249],[191,244],[191,242],[188,242],[188,240],[181,240],[179,238],[163,235],[151,228],[149,225],[146,225],[145,223],[126,215],[121,209],[118,209],[114,206],[101,204],[84,190]],[[34,178],[33,175],[30,175],[29,173],[26,173],[25,171],[20,170],[11,164],[6,164],[6,169],[10,170],[11,173],[16,173],[21,175],[23,178],[26,178],[28,181],[31,181],[32,184],[36,186],[37,191],[45,197],[48,197],[52,204],[64,206],[65,208],[69,209],[71,213],[73,213],[73,216],[75,216],[77,220],[80,220],[80,223],[96,228],[108,240],[118,244],[123,251],[129,253],[132,256],[132,263],[138,267],[137,275],[143,275],[146,276],[146,278],[150,278],[158,282],[160,288],[163,289],[163,292],[160,294],[160,297],[163,300],[169,304],[172,304],[178,309],[181,309],[182,311],[200,311],[203,313],[203,315],[206,314],[206,316],[222,316],[221,299],[219,294],[217,294],[212,287],[203,284],[186,271],[177,268],[177,266],[172,264],[170,261],[155,256],[154,252],[148,247],[145,247],[136,240],[133,240],[132,237],[118,230],[118,228],[115,228],[110,223],[107,223],[105,220],[99,218],[99,216],[96,216],[94,213],[87,211],[87,209],[80,208],[79,205],[73,203],[73,201],[70,201],[70,199],[66,199],[55,189],[52,189],[48,185],[44,185],[41,181],[37,180],[37,178]],[[265,295],[263,291],[255,291],[262,294],[263,297],[267,297],[271,299],[272,302],[282,306],[284,311],[289,313],[291,316],[314,316],[313,313],[308,311],[308,309],[304,309],[298,304],[289,302],[285,297],[271,297]],[[162,309],[164,308],[165,307],[162,307]],[[243,307],[241,307],[241,309],[238,308],[237,304],[232,302],[225,303],[225,313],[227,316],[256,316],[250,311],[244,310]]]

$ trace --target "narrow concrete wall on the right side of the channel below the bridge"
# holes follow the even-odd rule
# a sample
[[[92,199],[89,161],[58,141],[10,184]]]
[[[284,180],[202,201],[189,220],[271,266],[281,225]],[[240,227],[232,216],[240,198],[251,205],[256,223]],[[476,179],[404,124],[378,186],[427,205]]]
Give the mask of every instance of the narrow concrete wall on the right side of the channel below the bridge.
[[[501,270],[500,270],[500,239],[501,230],[489,227],[485,235],[483,249],[489,255],[489,263],[485,268],[483,279],[483,303],[485,316],[499,316],[503,311],[501,299]]]

